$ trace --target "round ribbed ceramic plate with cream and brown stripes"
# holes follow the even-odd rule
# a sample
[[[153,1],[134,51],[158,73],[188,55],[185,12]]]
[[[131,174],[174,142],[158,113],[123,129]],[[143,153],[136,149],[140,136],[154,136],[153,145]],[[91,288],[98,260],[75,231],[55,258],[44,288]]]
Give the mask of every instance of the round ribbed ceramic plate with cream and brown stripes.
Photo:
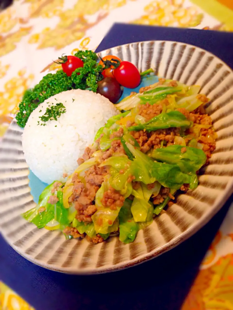
[[[21,218],[35,204],[44,184],[31,175],[25,162],[22,129],[14,120],[0,148],[0,229],[7,242],[26,259],[66,273],[109,272],[156,257],[200,229],[222,207],[233,185],[233,72],[211,53],[180,42],[149,41],[126,44],[100,53],[117,55],[139,71],[153,68],[156,75],[201,86],[210,98],[207,111],[217,132],[216,150],[199,186],[178,197],[177,203],[140,230],[135,241],[117,237],[97,245],[65,240],[62,232],[38,229]],[[34,195],[34,197],[31,195]]]

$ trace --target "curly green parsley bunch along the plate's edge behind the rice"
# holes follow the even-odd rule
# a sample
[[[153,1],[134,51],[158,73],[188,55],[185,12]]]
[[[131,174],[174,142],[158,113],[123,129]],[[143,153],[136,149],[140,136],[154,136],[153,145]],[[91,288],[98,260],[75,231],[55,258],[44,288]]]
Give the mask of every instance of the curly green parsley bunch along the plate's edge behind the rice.
[[[78,88],[83,90],[89,88],[94,92],[97,91],[97,82],[103,79],[101,74],[103,67],[98,65],[96,53],[78,51],[75,56],[84,62],[84,66],[76,69],[71,77],[68,77],[62,70],[54,74],[48,73],[32,90],[25,93],[16,115],[19,126],[25,127],[30,114],[40,103],[62,91]],[[77,75],[77,73],[80,74]]]

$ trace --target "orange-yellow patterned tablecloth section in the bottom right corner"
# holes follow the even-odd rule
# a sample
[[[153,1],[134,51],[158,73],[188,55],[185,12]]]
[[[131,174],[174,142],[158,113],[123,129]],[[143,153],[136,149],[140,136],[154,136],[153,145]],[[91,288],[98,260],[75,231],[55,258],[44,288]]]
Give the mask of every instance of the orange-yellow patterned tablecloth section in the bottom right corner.
[[[233,204],[181,310],[233,310]]]

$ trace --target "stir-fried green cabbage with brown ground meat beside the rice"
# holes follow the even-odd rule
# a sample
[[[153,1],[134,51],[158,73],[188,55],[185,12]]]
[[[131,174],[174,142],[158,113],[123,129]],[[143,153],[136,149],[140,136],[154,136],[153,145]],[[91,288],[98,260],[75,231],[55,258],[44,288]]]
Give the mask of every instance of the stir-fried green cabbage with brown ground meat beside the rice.
[[[196,85],[159,78],[115,104],[121,113],[110,109],[114,115],[104,119],[77,159],[79,166],[66,181],[53,178],[24,218],[38,228],[60,229],[67,239],[98,243],[117,234],[124,243],[134,241],[176,202],[176,193],[198,186],[198,172],[215,149],[212,119],[204,109],[208,98],[199,91]],[[57,122],[68,110],[61,102],[66,112],[59,107]],[[66,139],[75,141],[69,134]],[[58,160],[66,164],[64,157]],[[49,175],[47,167],[44,174]]]

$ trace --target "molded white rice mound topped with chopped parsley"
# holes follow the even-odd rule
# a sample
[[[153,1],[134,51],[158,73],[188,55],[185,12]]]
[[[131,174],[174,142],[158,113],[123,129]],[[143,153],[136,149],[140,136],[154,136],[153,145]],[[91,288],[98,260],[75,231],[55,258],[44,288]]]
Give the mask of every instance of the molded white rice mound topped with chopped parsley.
[[[57,121],[38,125],[48,105],[60,102],[66,112]],[[44,183],[64,182],[63,174],[70,175],[77,168],[77,159],[94,142],[98,129],[118,113],[107,98],[88,90],[63,91],[45,100],[31,113],[22,135],[29,168]]]

